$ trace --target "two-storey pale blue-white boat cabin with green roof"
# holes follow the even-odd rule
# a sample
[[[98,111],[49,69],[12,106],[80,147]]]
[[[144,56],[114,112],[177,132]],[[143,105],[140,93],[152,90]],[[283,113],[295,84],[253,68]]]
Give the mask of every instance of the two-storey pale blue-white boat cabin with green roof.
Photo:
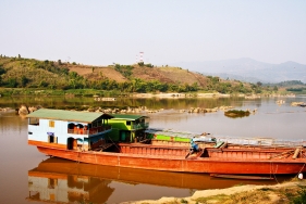
[[[103,113],[40,109],[27,115],[28,143],[66,150],[90,150],[111,131]]]

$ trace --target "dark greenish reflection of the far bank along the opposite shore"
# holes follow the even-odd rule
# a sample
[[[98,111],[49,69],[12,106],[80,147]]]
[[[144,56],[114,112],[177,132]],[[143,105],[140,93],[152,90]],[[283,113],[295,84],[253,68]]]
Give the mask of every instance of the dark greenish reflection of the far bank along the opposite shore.
[[[136,98],[118,98],[115,101],[95,101],[88,97],[2,97],[0,98],[0,107],[20,107],[21,104],[41,105],[44,107],[60,106],[103,106],[103,107],[122,107],[122,106],[147,106],[149,109],[187,109],[205,107],[212,109],[221,105],[242,106],[242,98],[207,98],[207,99],[136,99]],[[260,101],[259,101],[260,104]]]

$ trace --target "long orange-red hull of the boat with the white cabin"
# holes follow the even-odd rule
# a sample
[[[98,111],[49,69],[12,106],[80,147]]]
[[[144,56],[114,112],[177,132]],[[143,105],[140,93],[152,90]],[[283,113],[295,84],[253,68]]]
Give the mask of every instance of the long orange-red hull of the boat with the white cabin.
[[[175,155],[148,155],[138,152],[79,152],[50,146],[37,146],[37,149],[44,154],[76,162],[140,169],[240,175],[283,175],[306,171],[306,158],[267,158],[271,154],[258,153],[258,151],[257,154],[252,154],[253,157],[245,157],[243,153],[237,153],[243,151],[225,151],[227,157],[218,156],[218,153],[215,153],[217,155],[215,157],[189,156],[185,158],[180,152]],[[148,152],[148,148],[142,149]]]

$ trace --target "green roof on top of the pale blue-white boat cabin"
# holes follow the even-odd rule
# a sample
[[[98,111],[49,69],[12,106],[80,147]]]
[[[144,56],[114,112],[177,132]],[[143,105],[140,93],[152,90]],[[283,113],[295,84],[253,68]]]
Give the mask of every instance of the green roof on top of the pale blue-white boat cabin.
[[[103,114],[103,113],[40,109],[40,110],[37,110],[37,111],[28,114],[27,117],[38,117],[38,118],[44,118],[44,119],[66,120],[66,122],[91,123],[99,118],[110,119],[113,116]]]

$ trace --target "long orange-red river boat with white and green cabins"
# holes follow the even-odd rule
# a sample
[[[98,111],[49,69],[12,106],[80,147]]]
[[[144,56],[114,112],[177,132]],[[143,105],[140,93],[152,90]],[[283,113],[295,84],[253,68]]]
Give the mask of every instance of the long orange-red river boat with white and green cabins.
[[[155,145],[146,116],[41,109],[28,116],[28,144],[56,157],[106,166],[220,175],[286,175],[306,171],[305,146],[246,148],[219,142]]]

